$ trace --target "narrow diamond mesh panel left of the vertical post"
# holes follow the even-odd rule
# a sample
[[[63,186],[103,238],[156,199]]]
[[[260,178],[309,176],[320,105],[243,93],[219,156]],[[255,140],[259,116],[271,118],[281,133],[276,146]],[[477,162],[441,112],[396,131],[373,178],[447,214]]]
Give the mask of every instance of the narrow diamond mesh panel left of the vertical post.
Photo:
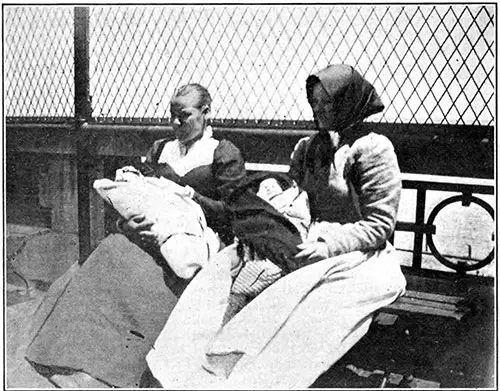
[[[31,121],[73,117],[73,58],[73,7],[5,7],[5,114]]]

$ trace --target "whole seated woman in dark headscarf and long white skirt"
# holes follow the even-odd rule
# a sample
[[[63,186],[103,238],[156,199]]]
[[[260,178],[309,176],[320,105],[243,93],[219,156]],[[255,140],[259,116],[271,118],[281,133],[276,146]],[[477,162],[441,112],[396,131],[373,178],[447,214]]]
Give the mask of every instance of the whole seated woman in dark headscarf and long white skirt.
[[[313,223],[295,255],[304,266],[207,334],[204,357],[185,359],[193,368],[180,368],[187,374],[180,380],[164,370],[175,363],[158,348],[174,344],[160,334],[148,363],[166,388],[306,388],[361,339],[376,310],[404,292],[388,242],[401,192],[396,155],[386,137],[358,127],[384,106],[347,65],[309,76],[306,90],[318,133],[299,141],[289,171],[310,200]],[[182,300],[174,313],[181,308]]]

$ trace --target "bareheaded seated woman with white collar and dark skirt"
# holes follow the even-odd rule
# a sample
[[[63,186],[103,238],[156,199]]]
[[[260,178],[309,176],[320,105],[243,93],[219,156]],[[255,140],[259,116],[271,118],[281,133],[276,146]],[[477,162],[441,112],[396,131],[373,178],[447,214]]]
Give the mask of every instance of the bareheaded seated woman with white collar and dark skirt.
[[[175,140],[155,142],[140,169],[186,186],[209,226],[226,238],[229,216],[220,199],[245,168],[232,143],[212,138],[210,106],[204,87],[179,88],[171,101]],[[188,282],[159,255],[152,224],[144,216],[121,221],[126,234],[105,238],[48,291],[26,358],[59,386],[139,386],[145,355]]]

